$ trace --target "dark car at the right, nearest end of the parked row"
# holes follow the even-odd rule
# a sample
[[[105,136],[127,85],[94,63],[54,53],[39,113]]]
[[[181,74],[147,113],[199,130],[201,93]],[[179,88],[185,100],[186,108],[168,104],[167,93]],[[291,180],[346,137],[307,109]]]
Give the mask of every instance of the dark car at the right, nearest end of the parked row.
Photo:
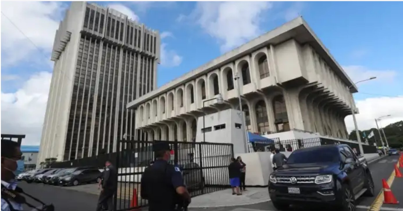
[[[76,170],[71,174],[59,178],[59,185],[78,185],[82,183],[97,182],[101,172],[96,168]]]

